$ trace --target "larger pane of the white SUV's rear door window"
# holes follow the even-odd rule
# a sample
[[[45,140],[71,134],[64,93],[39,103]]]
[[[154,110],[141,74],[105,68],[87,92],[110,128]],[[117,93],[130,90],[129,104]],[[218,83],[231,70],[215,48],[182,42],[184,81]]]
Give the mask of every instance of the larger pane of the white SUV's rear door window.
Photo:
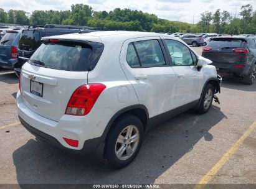
[[[140,58],[141,66],[156,67],[166,65],[158,40],[143,40],[134,44]]]

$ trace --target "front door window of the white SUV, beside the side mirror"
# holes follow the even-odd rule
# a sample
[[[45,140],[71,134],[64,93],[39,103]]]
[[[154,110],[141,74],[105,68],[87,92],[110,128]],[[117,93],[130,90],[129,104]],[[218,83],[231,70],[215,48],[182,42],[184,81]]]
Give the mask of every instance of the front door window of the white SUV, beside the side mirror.
[[[168,48],[173,65],[194,65],[191,50],[186,45],[170,39],[165,39],[164,42]]]

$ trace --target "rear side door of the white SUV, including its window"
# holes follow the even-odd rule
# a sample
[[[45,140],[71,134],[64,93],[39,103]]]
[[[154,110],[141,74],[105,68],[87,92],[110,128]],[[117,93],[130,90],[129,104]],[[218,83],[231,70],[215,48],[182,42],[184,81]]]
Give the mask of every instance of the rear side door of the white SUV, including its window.
[[[163,49],[160,37],[144,37],[126,40],[121,50],[121,68],[149,118],[173,109],[175,103],[176,73]]]

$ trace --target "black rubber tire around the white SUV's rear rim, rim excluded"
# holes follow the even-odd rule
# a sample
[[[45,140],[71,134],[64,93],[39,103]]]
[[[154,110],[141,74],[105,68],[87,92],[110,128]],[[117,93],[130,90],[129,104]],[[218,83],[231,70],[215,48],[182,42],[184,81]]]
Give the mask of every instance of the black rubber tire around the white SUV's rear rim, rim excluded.
[[[116,141],[120,133],[127,126],[135,126],[138,129],[138,145],[133,154],[131,155],[131,157],[129,157],[126,160],[120,160],[116,155]],[[143,132],[144,129],[141,120],[133,114],[125,114],[124,116],[121,116],[120,118],[116,119],[106,139],[105,164],[115,169],[123,168],[129,165],[135,159],[136,155],[138,155],[138,152],[140,151],[140,147],[143,141]]]

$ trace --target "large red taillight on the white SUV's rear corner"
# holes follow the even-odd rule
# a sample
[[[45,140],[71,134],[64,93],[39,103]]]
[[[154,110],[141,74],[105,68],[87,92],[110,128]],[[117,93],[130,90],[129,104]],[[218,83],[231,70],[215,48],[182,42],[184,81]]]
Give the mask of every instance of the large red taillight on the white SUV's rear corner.
[[[102,93],[105,88],[106,86],[102,83],[90,83],[79,86],[69,99],[65,114],[84,116],[90,113],[98,96],[100,96],[100,93]]]

